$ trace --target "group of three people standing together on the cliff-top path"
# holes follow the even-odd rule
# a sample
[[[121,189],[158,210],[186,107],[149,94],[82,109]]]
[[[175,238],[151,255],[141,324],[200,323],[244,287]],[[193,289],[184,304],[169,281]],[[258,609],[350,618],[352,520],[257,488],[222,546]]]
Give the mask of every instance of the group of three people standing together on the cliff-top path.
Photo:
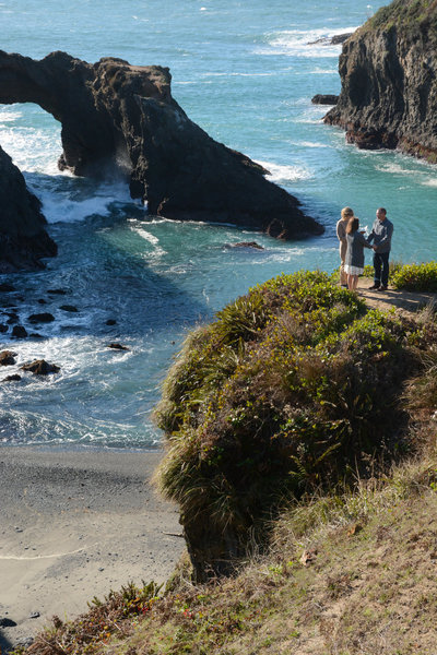
[[[358,276],[364,271],[364,249],[374,250],[374,284],[370,289],[386,291],[389,283],[389,257],[393,224],[387,218],[387,211],[379,207],[371,233],[366,238],[364,230],[358,230],[359,221],[351,207],[344,207],[336,224],[336,236],[340,241],[340,284],[351,290],[356,289]],[[374,242],[370,246],[371,241]]]

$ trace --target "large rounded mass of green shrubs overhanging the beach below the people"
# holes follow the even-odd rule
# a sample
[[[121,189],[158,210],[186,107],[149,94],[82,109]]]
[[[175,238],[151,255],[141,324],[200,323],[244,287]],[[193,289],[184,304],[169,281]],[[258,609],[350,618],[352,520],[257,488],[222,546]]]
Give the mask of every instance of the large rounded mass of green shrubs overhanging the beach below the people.
[[[188,336],[156,410],[157,477],[198,579],[262,543],[285,499],[344,488],[404,448],[421,338],[321,272],[259,285]]]

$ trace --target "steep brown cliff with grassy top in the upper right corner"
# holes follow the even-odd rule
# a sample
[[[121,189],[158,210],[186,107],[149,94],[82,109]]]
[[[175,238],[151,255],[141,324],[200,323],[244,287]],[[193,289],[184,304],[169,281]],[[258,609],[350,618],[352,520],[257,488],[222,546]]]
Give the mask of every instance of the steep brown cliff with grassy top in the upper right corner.
[[[437,163],[437,2],[395,0],[344,44],[338,105],[324,117],[362,148]]]

